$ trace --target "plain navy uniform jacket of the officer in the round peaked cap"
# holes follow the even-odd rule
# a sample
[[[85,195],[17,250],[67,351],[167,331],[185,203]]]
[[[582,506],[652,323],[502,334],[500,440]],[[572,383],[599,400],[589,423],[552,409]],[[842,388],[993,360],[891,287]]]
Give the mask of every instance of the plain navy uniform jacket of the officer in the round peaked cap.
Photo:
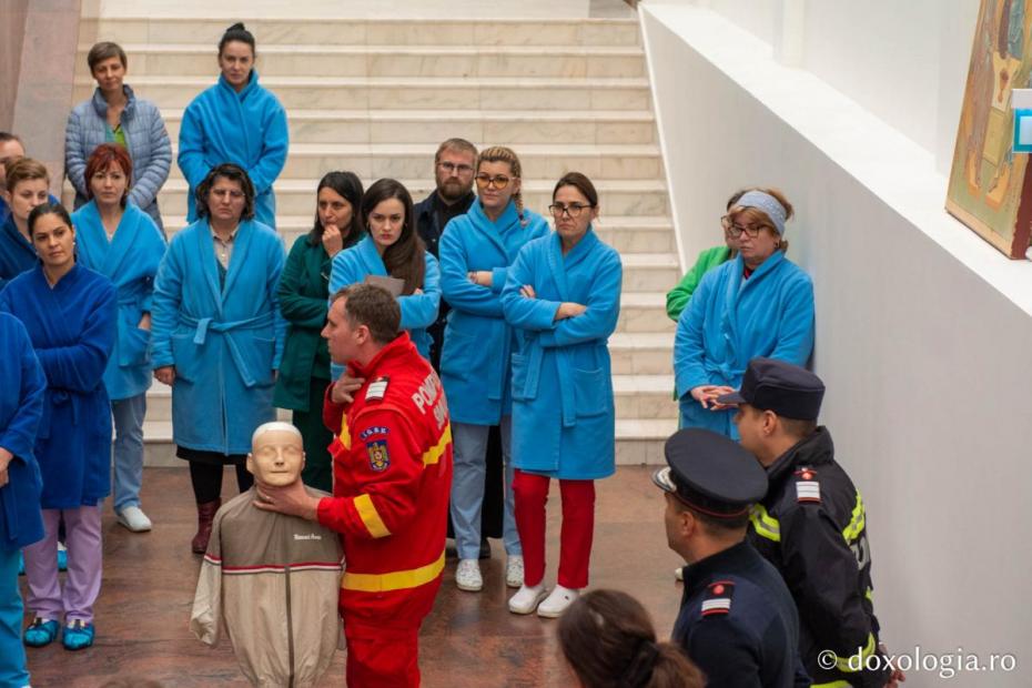
[[[799,617],[777,569],[747,542],[685,567],[674,641],[708,688],[809,686]]]

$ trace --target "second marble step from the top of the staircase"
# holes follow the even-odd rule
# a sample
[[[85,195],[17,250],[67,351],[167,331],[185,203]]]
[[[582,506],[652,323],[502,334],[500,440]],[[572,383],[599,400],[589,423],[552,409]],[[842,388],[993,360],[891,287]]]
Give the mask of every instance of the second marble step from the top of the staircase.
[[[90,77],[79,47],[77,75]],[[212,47],[199,43],[128,43],[132,78],[217,74]],[[295,74],[326,77],[643,77],[645,54],[628,47],[471,45],[260,45],[262,78]]]

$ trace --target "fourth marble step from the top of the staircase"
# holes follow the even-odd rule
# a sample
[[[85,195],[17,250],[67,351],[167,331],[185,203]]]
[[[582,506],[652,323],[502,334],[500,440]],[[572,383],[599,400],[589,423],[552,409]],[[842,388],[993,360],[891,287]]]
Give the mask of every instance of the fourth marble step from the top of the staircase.
[[[163,112],[169,136],[179,141],[183,111]],[[461,136],[480,145],[536,144],[553,150],[595,144],[599,148],[649,144],[649,164],[640,168],[640,155],[625,160],[618,151],[607,152],[598,166],[649,170],[648,176],[662,176],[656,146],[656,123],[647,110],[307,110],[287,113],[291,155],[301,154],[297,145],[333,146],[375,144],[422,151],[445,139]],[[398,144],[417,144],[399,146]],[[302,149],[304,150],[304,149]],[[317,154],[312,148],[305,154]],[[520,151],[522,152],[522,145]],[[655,154],[651,154],[654,153]],[[330,153],[326,153],[327,155]],[[601,153],[600,153],[601,155]],[[603,163],[605,168],[603,166]],[[655,170],[655,172],[651,172]],[[421,172],[423,170],[421,169]],[[641,174],[645,174],[643,171]],[[630,176],[630,175],[628,175]]]

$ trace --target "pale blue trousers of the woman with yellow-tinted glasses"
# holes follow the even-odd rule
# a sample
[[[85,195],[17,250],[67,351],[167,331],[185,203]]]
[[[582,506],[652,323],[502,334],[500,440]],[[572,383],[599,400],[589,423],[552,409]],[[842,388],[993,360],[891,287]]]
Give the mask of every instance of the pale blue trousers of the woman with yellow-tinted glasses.
[[[523,555],[519,532],[513,516],[513,416],[502,416],[502,457],[505,462],[505,516],[502,542],[505,553]],[[452,423],[454,469],[452,474],[452,525],[459,559],[476,559],[480,554],[480,508],[487,475],[487,434],[489,425]]]

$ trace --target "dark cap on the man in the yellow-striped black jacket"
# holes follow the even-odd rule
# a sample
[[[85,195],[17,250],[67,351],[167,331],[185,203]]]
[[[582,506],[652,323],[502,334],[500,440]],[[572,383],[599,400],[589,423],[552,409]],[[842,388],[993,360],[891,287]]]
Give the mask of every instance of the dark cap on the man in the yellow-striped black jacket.
[[[810,371],[775,358],[753,358],[741,378],[741,389],[717,401],[749,404],[783,418],[817,421],[823,398],[824,383]]]

